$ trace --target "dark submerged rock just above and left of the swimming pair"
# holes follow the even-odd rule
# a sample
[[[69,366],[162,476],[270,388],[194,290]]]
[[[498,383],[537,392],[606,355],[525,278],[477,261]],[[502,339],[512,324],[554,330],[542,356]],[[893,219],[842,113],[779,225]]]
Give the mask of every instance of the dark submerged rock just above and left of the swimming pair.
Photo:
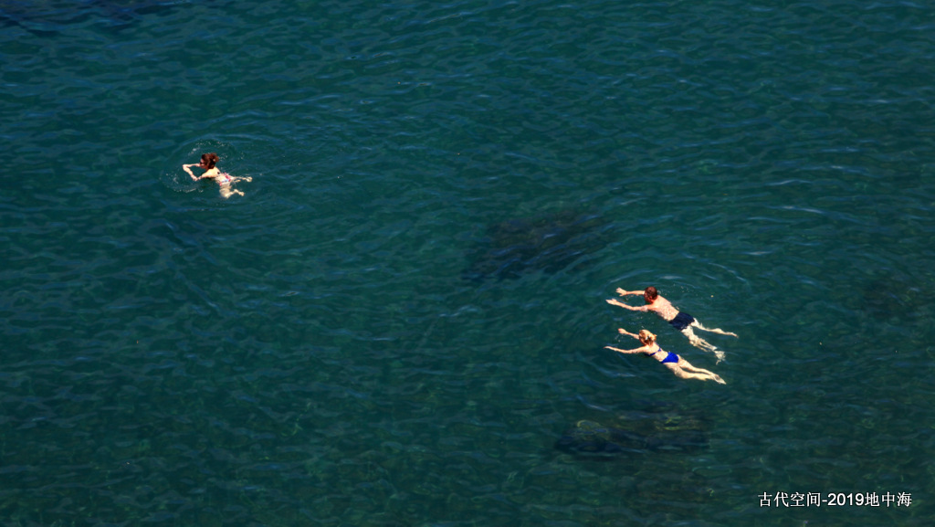
[[[526,272],[577,271],[587,261],[584,256],[607,245],[606,226],[600,216],[571,211],[491,225],[482,242],[468,251],[462,277],[503,280]]]

